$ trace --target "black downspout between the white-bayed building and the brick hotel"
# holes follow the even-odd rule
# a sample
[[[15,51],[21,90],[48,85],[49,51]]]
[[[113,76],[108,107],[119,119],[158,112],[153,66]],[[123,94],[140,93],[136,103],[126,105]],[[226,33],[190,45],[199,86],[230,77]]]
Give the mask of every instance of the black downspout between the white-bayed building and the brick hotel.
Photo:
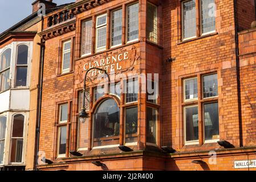
[[[42,16],[42,26],[41,31],[43,31],[43,16]],[[43,89],[43,63],[44,63],[44,43],[41,39],[40,43],[38,43],[40,46],[40,63],[39,63],[39,77],[38,77],[38,103],[37,103],[37,117],[36,117],[36,159],[35,159],[35,170],[37,171],[36,165],[38,164],[38,152],[39,152],[39,134],[40,134],[40,120],[41,120],[41,108],[42,108],[42,89]]]

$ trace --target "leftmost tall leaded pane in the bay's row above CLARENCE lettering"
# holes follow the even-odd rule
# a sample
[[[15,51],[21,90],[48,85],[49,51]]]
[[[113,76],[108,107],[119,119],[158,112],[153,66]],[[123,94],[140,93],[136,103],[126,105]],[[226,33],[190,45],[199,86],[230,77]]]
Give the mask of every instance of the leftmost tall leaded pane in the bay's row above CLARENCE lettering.
[[[82,25],[82,55],[91,53],[92,49],[92,19],[86,20]]]

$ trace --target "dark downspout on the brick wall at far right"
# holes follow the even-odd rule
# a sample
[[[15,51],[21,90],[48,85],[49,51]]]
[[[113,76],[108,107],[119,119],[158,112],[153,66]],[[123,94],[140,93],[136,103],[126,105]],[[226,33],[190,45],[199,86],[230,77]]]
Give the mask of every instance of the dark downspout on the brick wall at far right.
[[[240,144],[240,147],[242,147],[243,146],[243,128],[242,128],[242,107],[241,107],[241,80],[240,80],[240,67],[239,67],[240,61],[239,61],[239,47],[238,47],[237,0],[234,0],[234,21],[235,21],[235,61],[236,61],[236,67],[237,67],[239,144]]]

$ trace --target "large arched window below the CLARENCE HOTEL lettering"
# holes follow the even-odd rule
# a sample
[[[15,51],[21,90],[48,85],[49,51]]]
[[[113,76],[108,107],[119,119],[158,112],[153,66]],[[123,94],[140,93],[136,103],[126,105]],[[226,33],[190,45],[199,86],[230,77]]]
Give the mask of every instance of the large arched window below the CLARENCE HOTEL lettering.
[[[94,147],[119,143],[120,109],[115,100],[103,101],[94,114]]]

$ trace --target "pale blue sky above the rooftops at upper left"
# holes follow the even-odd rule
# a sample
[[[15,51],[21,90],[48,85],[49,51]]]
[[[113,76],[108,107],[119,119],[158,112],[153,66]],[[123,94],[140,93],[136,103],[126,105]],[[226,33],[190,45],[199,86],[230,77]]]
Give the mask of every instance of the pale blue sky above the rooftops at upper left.
[[[31,3],[35,0],[0,0],[0,33],[26,18],[32,13]],[[57,5],[75,0],[53,0]]]

